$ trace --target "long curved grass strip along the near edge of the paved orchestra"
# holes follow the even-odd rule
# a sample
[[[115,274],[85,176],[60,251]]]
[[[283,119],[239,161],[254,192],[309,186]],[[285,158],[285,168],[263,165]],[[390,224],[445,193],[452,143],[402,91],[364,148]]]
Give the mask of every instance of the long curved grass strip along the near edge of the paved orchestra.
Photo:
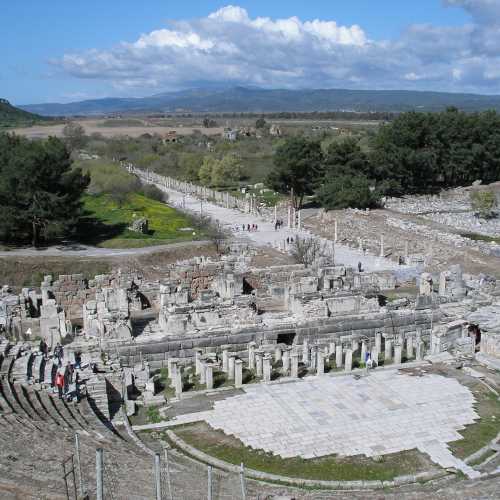
[[[240,440],[213,430],[203,422],[172,430],[186,443],[212,457],[234,465],[243,462],[247,468],[287,477],[321,481],[388,481],[433,468],[416,450],[385,455],[377,461],[364,456],[282,459],[271,453],[248,448]]]

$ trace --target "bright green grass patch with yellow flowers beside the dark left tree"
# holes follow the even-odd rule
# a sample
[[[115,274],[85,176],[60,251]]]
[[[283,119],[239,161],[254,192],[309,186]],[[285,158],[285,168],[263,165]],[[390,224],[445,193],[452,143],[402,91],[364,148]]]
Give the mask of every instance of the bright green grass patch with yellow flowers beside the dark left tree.
[[[130,194],[121,206],[107,194],[85,195],[85,217],[78,228],[79,241],[104,248],[139,248],[173,242],[203,239],[195,221],[159,201],[141,194]],[[148,234],[131,231],[134,219],[146,218]]]

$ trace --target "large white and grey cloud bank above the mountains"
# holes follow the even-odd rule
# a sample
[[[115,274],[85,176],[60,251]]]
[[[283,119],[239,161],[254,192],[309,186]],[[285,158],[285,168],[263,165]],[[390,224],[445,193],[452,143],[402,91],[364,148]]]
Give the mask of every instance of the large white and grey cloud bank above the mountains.
[[[358,25],[251,18],[228,5],[108,50],[66,54],[54,64],[131,93],[199,82],[500,91],[500,1],[443,1],[466,9],[472,22],[412,25],[399,39],[373,40]]]

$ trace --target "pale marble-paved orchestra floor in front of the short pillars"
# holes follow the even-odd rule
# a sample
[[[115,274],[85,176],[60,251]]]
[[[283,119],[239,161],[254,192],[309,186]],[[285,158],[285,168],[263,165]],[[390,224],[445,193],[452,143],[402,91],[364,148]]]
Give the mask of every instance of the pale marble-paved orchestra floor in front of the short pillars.
[[[461,439],[457,431],[479,418],[473,403],[455,379],[386,370],[359,380],[324,375],[246,386],[197,420],[283,458],[371,457],[417,448],[443,467],[470,473],[446,443]]]

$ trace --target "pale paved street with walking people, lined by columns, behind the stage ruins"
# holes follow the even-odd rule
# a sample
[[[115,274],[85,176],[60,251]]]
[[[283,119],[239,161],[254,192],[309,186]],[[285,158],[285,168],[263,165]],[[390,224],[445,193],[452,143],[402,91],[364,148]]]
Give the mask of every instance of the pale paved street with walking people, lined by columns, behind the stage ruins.
[[[145,177],[142,178],[145,181]],[[191,213],[203,214],[210,216],[213,220],[219,221],[225,228],[229,229],[231,233],[242,240],[258,245],[258,246],[273,246],[277,247],[284,244],[287,237],[296,238],[310,237],[311,233],[307,230],[293,230],[283,228],[275,231],[272,221],[264,220],[255,215],[240,212],[232,208],[225,208],[207,201],[200,202],[199,199],[184,195],[179,191],[165,188],[162,184],[156,184],[162,191],[166,192],[169,197],[169,204],[175,206],[180,210],[187,210]],[[286,221],[284,221],[286,223]],[[243,226],[248,224],[257,224],[257,231],[243,231]],[[358,262],[362,263],[365,271],[387,271],[394,270],[401,273],[414,273],[414,268],[407,266],[398,266],[390,259],[376,257],[374,255],[363,254],[358,250],[353,250],[347,246],[336,244],[335,245],[335,260],[339,264],[352,266],[357,268]]]

